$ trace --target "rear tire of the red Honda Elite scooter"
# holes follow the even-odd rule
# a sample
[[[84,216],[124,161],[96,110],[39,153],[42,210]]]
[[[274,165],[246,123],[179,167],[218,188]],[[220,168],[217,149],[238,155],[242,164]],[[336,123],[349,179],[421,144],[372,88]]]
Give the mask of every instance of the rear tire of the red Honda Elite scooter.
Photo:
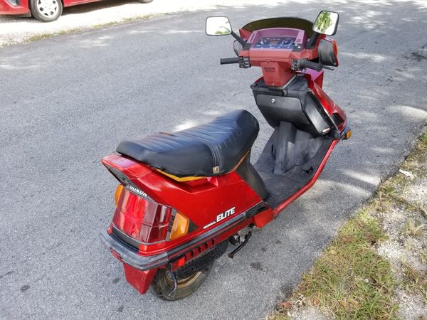
[[[174,282],[172,280],[171,274],[166,269],[159,269],[157,270],[157,274],[155,275],[149,290],[163,300],[175,301],[184,299],[185,297],[188,297],[190,294],[195,292],[206,280],[209,272],[211,271],[212,265],[214,265],[214,262],[211,262],[206,270],[194,272],[186,279],[179,279],[179,277],[176,277],[178,280],[178,287],[176,288],[174,294],[172,294],[170,297],[169,293],[174,288]]]

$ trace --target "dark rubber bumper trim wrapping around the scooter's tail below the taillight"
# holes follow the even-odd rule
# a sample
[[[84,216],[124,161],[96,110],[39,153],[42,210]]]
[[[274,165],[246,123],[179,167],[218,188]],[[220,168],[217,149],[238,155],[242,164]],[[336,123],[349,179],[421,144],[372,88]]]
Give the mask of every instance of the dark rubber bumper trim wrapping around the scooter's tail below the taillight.
[[[114,233],[111,233],[110,235],[108,233],[101,233],[100,239],[105,245],[105,247],[107,247],[107,249],[117,252],[117,254],[122,257],[123,262],[139,270],[149,270],[154,267],[165,265],[169,261],[173,260],[174,257],[184,254],[185,252],[194,249],[194,247],[197,247],[201,243],[211,240],[211,238],[215,238],[218,234],[233,228],[238,223],[241,223],[243,220],[246,220],[248,212],[250,212],[253,208],[258,207],[259,205],[260,203],[257,203],[252,208],[234,216],[230,220],[227,220],[225,223],[222,223],[221,225],[218,225],[217,227],[208,230],[206,233],[199,235],[199,237],[196,237],[190,240],[189,242],[179,245],[178,247],[174,247],[172,250],[165,251],[157,255],[138,255],[137,250],[135,250],[135,247],[132,247],[126,242],[123,242]]]

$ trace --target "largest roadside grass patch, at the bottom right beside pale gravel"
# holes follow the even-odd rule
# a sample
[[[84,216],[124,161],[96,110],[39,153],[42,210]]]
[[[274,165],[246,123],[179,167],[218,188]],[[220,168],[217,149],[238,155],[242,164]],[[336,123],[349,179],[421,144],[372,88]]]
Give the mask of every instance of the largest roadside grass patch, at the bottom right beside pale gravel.
[[[372,247],[384,239],[378,221],[360,211],[302,277],[295,296],[338,319],[393,319],[395,280],[389,262]]]

